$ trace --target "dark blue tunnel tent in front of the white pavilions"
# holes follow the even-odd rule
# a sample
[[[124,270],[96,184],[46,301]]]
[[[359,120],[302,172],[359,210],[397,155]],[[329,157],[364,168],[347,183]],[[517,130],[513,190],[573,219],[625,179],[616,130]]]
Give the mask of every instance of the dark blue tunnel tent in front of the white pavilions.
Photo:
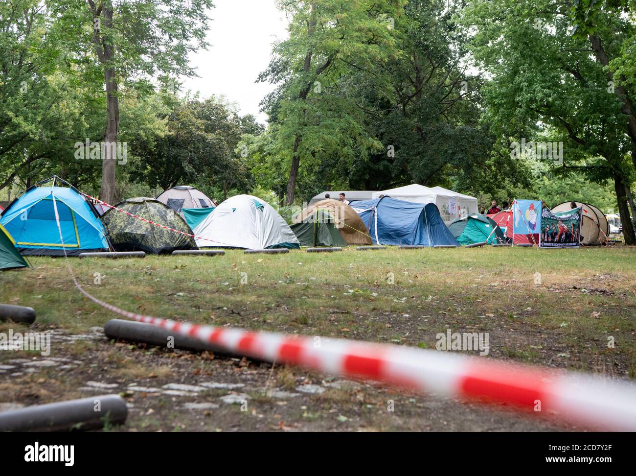
[[[412,203],[382,197],[359,200],[352,207],[369,228],[375,244],[460,246],[434,203]]]

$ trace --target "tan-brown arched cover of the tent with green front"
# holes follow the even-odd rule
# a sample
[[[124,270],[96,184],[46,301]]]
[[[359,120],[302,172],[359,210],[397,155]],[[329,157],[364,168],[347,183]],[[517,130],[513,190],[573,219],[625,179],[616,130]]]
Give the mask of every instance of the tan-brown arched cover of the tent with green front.
[[[352,207],[340,200],[326,199],[308,206],[294,216],[294,223],[315,220],[317,211],[326,211],[333,216],[333,223],[347,244],[371,244],[369,230]],[[321,214],[324,216],[324,213]]]

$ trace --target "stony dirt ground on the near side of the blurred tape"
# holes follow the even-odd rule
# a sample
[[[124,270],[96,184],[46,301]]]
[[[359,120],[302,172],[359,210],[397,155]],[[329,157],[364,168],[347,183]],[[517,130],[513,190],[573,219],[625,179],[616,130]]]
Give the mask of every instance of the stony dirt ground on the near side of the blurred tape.
[[[564,429],[563,424],[556,426],[535,414],[520,415],[505,406],[492,409],[439,395],[404,393],[379,382],[347,381],[296,367],[272,368],[245,358],[112,343],[99,328],[83,335],[51,331],[53,342],[60,345],[53,346],[57,351],[50,356],[20,354],[0,367],[10,377],[0,383],[0,395],[13,402],[0,403],[0,410],[118,393],[127,401],[128,419],[108,430]]]

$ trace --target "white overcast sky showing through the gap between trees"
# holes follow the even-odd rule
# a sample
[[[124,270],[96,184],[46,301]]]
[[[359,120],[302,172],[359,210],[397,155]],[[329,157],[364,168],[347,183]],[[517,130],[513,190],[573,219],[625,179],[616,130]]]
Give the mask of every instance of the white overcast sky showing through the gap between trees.
[[[190,57],[200,77],[186,78],[183,87],[199,91],[202,99],[225,95],[242,115],[251,113],[265,123],[258,103],[273,86],[254,81],[269,64],[272,42],[286,38],[287,20],[274,0],[214,0],[214,5],[207,35],[211,47]]]

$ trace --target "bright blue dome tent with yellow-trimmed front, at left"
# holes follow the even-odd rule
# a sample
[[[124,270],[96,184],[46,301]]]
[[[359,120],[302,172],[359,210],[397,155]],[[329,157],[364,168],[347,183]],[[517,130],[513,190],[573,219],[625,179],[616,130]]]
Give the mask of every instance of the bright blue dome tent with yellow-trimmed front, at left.
[[[31,186],[13,200],[0,217],[0,225],[13,236],[22,255],[69,256],[85,251],[109,251],[104,226],[95,207],[74,187]],[[48,180],[50,181],[50,179]],[[53,198],[64,244],[55,220]]]

